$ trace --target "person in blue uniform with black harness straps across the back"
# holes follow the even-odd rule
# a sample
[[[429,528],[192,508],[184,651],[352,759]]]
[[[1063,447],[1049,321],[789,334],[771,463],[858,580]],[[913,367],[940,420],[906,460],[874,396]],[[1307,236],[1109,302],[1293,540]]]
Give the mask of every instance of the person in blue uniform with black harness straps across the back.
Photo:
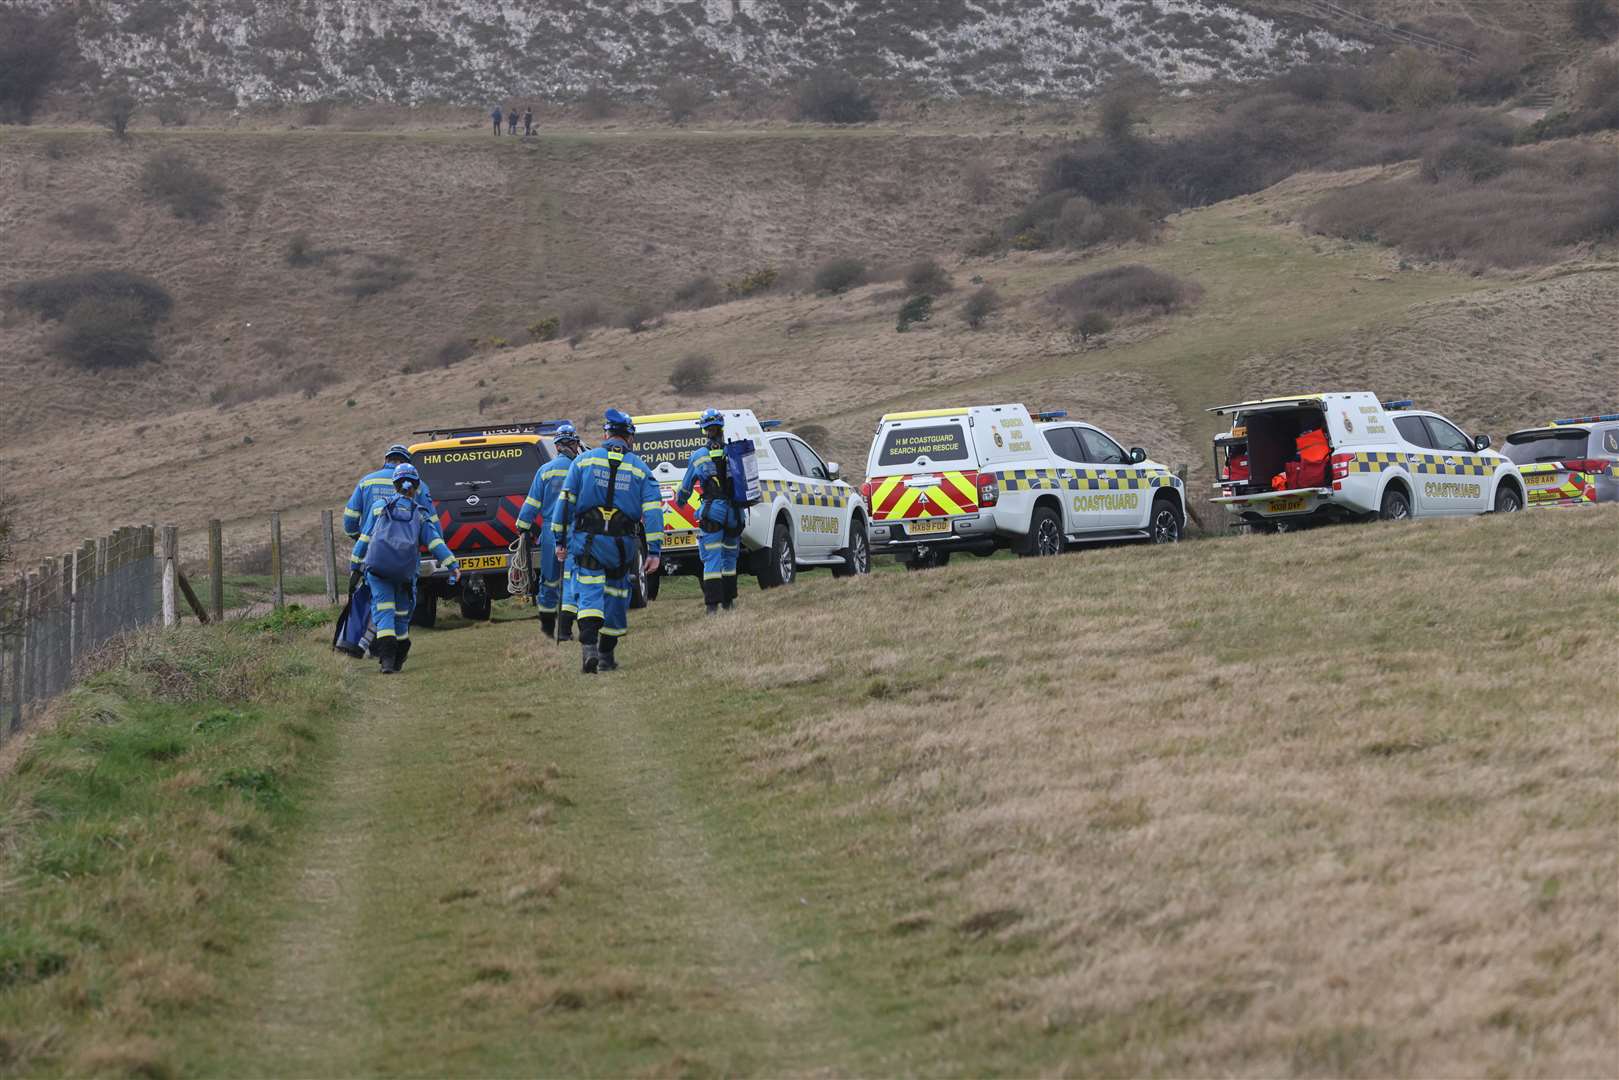
[[[557,492],[550,529],[557,559],[573,567],[581,670],[617,670],[618,640],[630,628],[630,576],[646,536],[646,573],[664,547],[664,499],[635,453],[630,416],[607,410],[602,445],[573,458]]]

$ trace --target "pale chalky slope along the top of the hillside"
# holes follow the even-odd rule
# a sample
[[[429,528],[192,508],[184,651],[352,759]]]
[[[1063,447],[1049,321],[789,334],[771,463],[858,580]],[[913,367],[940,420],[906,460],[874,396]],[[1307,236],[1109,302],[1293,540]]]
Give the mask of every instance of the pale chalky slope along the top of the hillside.
[[[822,63],[931,92],[1083,94],[1137,68],[1248,79],[1360,49],[1208,0],[21,0],[149,94],[478,102],[714,89]]]

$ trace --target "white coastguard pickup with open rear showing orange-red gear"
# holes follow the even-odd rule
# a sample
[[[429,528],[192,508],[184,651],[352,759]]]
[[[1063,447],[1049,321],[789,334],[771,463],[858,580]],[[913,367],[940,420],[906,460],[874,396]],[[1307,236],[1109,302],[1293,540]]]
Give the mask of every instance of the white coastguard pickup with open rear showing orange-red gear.
[[[1523,508],[1523,478],[1438,413],[1373,393],[1300,393],[1211,408],[1214,502],[1260,531],[1321,521]]]

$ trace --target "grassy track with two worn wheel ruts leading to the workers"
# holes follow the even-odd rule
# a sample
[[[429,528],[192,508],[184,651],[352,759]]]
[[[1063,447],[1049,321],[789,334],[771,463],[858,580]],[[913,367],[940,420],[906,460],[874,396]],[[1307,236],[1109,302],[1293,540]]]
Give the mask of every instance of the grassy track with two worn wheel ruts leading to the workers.
[[[334,657],[368,709],[338,737],[222,1015],[176,1040],[188,1072],[842,1059],[822,989],[750,900],[758,882],[714,853],[696,745],[669,737],[644,682],[570,678],[573,662],[531,620],[427,635],[398,678]]]

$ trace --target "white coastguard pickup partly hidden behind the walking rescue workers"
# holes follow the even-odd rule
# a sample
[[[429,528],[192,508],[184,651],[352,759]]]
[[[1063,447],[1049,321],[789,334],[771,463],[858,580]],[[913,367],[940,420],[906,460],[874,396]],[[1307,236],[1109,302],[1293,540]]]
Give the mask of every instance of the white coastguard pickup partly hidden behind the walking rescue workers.
[[[751,410],[724,410],[725,440],[751,439],[759,461],[763,497],[748,510],[737,568],[759,580],[759,588],[792,585],[805,567],[829,567],[834,576],[871,572],[866,504],[839,478],[837,461],[826,461],[798,436],[776,431],[777,421],[759,421]],[[649,466],[664,492],[664,560],[646,581],[648,597],[657,596],[662,575],[696,575],[698,508],[691,494],[677,507],[675,495],[686,474],[691,452],[708,445],[698,429],[701,413],[661,413],[635,418],[635,452]]]

